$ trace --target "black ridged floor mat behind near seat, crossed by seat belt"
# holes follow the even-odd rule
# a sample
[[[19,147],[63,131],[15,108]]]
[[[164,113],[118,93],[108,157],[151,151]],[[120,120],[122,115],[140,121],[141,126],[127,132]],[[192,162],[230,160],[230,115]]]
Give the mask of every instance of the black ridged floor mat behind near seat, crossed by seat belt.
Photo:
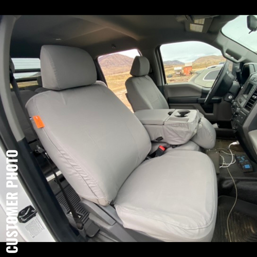
[[[81,218],[81,221],[84,224],[84,227],[86,229],[86,233],[88,236],[94,236],[99,228],[90,221],[89,219],[89,213],[80,205],[80,197],[75,192],[75,190],[67,183],[67,186],[64,188],[69,200],[71,201],[71,204],[74,206],[76,212]],[[69,206],[64,198],[63,193],[60,191],[56,195],[57,200],[59,201],[59,204],[63,208],[67,218],[69,219],[70,223],[73,224],[74,227],[76,227],[74,219],[72,218],[72,215],[70,213]]]

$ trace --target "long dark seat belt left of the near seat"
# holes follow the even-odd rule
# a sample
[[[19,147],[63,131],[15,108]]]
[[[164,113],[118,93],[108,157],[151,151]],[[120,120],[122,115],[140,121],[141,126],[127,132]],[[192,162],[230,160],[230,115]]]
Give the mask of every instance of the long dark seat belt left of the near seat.
[[[48,162],[48,164],[49,164],[49,166],[51,168],[51,171],[52,171],[54,177],[56,178],[56,181],[57,181],[57,183],[58,183],[58,185],[59,185],[59,187],[60,187],[60,189],[61,189],[61,191],[62,191],[62,193],[64,195],[64,198],[65,198],[65,200],[66,200],[66,202],[67,202],[67,204],[69,206],[70,212],[72,214],[72,217],[74,218],[74,221],[76,223],[78,231],[79,231],[80,235],[83,238],[86,238],[86,231],[84,229],[84,225],[83,225],[83,223],[82,223],[78,213],[76,212],[74,206],[72,206],[72,204],[71,204],[71,202],[70,202],[70,200],[69,200],[69,198],[68,198],[68,196],[67,196],[67,194],[66,194],[66,192],[65,192],[65,190],[64,190],[64,188],[62,186],[61,181],[59,180],[56,172],[54,171],[54,168],[53,168],[53,166],[52,166],[52,164],[50,162],[50,158],[49,158],[47,152],[45,151],[45,149],[43,148],[43,145],[41,144],[40,139],[39,139],[38,135],[36,134],[36,132],[34,130],[34,127],[33,127],[32,123],[31,123],[31,120],[30,120],[29,114],[27,112],[27,109],[25,107],[25,104],[22,101],[19,86],[17,85],[17,82],[16,82],[16,80],[15,80],[15,78],[13,76],[13,72],[12,72],[11,69],[10,69],[10,83],[11,83],[11,85],[13,87],[13,90],[14,90],[14,93],[15,93],[15,95],[16,95],[16,97],[17,97],[17,99],[18,99],[18,101],[19,101],[19,103],[20,103],[20,105],[22,107],[22,111],[23,111],[23,113],[24,113],[24,115],[25,115],[25,117],[26,117],[26,119],[27,119],[27,121],[28,121],[28,123],[29,123],[29,125],[31,127],[31,130],[33,131],[33,134],[35,136],[36,142],[38,143],[36,145],[36,151],[38,151],[47,160],[47,162]]]

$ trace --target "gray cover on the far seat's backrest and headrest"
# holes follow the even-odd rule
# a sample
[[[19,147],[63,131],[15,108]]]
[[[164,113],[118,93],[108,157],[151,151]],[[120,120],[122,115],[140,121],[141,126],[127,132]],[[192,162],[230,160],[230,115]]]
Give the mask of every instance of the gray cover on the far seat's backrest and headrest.
[[[125,82],[127,98],[134,112],[144,109],[169,109],[166,99],[148,76],[149,69],[148,59],[137,56],[130,72],[133,77]]]

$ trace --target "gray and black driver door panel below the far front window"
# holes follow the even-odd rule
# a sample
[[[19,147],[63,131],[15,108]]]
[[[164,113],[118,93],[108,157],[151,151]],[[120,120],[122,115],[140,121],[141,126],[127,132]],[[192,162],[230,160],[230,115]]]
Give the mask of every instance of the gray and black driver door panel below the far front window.
[[[209,105],[204,105],[208,91],[208,88],[192,82],[164,85],[164,94],[170,108],[198,109],[212,123],[229,122],[232,115],[231,104],[221,97],[214,97]]]

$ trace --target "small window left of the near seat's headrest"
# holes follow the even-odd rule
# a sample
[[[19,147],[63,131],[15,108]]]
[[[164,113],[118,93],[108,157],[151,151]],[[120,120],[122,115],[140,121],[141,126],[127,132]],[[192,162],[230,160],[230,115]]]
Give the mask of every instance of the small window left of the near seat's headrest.
[[[38,58],[12,58],[15,66],[14,78],[20,88],[34,90],[38,85],[40,60]]]

